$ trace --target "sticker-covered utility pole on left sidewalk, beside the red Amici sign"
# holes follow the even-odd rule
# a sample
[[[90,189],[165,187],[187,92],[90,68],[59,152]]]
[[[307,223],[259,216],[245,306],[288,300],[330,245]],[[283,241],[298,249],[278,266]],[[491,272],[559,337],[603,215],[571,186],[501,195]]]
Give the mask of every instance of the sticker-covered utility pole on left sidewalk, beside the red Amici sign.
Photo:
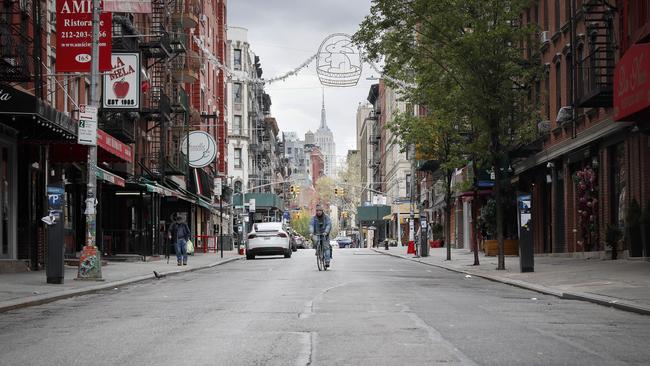
[[[92,42],[90,60],[90,103],[99,107],[99,0],[92,1]],[[101,253],[97,249],[97,145],[88,146],[88,184],[86,187],[86,245],[79,263],[77,279],[102,280]]]

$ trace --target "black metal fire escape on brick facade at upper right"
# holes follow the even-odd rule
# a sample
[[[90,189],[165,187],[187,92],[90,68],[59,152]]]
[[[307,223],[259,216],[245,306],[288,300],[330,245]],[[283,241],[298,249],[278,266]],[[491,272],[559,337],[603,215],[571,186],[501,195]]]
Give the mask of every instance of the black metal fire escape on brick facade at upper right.
[[[611,107],[614,95],[614,13],[606,0],[582,4],[587,54],[578,64],[578,106]]]

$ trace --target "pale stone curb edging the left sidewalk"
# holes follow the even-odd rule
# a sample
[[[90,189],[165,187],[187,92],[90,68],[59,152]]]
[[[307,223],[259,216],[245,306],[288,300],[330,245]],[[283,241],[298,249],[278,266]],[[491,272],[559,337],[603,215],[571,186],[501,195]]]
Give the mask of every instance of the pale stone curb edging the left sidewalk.
[[[213,268],[216,266],[224,265],[230,262],[238,261],[243,259],[243,257],[234,257],[234,258],[228,258],[224,259],[223,261],[219,262],[214,262],[210,263],[207,265],[203,265],[200,267],[194,267],[194,268],[189,268],[186,270],[173,270],[173,271],[167,271],[167,272],[160,272],[161,275],[163,276],[173,276],[181,273],[188,273],[188,272],[195,272],[195,271],[200,271],[203,269],[208,269],[208,268]],[[27,308],[31,306],[37,306],[37,305],[43,305],[47,304],[50,302],[58,301],[58,300],[63,300],[63,299],[68,299],[71,297],[76,297],[76,296],[83,296],[83,295],[89,295],[95,292],[100,292],[103,290],[107,290],[110,288],[116,288],[116,287],[122,287],[126,285],[130,285],[133,283],[138,283],[138,282],[143,282],[147,280],[153,280],[154,277],[152,274],[148,275],[141,275],[137,277],[132,277],[128,278],[125,280],[119,280],[119,281],[113,281],[113,282],[105,282],[96,286],[89,286],[83,289],[71,289],[71,290],[65,290],[61,291],[58,293],[51,293],[51,294],[43,294],[43,295],[36,295],[36,296],[29,296],[25,297],[22,299],[14,299],[14,300],[9,300],[9,301],[2,301],[0,302],[0,313],[4,313],[10,310],[16,310],[16,309],[22,309],[22,308]]]

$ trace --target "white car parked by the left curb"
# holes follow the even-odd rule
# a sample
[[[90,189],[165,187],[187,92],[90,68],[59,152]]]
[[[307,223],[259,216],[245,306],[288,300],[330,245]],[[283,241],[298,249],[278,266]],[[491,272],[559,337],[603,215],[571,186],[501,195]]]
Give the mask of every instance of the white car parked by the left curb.
[[[256,255],[284,255],[291,258],[291,240],[281,222],[260,222],[248,233],[246,259]]]

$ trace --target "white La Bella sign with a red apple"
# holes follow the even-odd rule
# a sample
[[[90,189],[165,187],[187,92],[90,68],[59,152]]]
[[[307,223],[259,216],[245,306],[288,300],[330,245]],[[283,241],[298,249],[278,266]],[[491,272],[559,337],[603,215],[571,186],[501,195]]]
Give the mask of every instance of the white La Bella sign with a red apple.
[[[113,67],[104,75],[104,108],[140,108],[140,54],[113,53]]]

